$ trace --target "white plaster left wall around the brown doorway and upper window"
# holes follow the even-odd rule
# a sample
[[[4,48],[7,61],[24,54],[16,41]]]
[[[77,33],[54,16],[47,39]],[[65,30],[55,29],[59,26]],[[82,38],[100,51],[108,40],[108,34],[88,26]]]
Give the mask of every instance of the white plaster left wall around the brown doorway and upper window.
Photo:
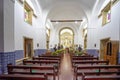
[[[32,38],[34,49],[46,49],[46,33],[41,15],[33,17],[32,25],[24,21],[24,8],[15,2],[15,50],[23,50],[24,37]],[[37,43],[39,47],[37,47]]]

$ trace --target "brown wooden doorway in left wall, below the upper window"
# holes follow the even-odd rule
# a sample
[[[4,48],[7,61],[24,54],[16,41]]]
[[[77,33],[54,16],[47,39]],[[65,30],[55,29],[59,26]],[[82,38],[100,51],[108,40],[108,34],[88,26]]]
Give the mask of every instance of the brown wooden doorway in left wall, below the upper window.
[[[24,58],[32,58],[33,56],[33,39],[24,38]]]

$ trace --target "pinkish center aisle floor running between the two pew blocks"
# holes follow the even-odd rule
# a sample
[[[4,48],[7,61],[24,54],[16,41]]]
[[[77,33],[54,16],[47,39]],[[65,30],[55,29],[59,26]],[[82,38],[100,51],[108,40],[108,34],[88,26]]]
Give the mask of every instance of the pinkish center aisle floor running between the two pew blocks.
[[[59,80],[73,80],[72,64],[68,53],[63,55],[60,71]]]

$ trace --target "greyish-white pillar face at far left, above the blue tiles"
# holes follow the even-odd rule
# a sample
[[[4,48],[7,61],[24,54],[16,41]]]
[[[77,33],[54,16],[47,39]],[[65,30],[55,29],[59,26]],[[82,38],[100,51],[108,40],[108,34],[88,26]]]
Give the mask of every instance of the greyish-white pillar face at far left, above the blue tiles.
[[[4,52],[14,51],[14,0],[4,0]]]

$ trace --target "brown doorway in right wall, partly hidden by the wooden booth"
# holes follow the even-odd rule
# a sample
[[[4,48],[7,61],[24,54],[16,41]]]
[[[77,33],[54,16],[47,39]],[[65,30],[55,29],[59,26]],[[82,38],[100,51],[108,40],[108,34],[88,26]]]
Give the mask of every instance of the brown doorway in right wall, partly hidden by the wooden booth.
[[[110,38],[105,38],[100,40],[100,59],[105,59],[105,51],[106,51],[106,43],[110,40]]]

